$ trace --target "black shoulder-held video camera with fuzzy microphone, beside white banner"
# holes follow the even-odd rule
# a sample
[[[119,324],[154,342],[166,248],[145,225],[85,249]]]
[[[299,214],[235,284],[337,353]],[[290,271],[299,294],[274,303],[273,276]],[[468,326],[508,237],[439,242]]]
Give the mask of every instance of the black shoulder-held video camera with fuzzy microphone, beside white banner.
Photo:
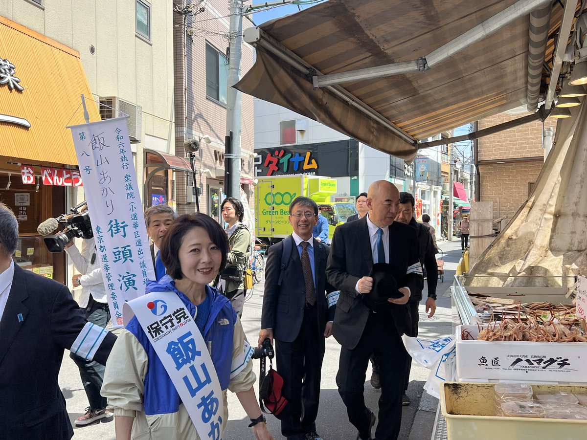
[[[63,214],[58,218],[49,218],[42,222],[37,231],[43,235],[43,241],[49,252],[63,252],[65,246],[76,237],[92,238],[92,222],[87,212],[86,201],[70,209],[72,214]],[[62,226],[63,230],[55,235],[48,235]]]

